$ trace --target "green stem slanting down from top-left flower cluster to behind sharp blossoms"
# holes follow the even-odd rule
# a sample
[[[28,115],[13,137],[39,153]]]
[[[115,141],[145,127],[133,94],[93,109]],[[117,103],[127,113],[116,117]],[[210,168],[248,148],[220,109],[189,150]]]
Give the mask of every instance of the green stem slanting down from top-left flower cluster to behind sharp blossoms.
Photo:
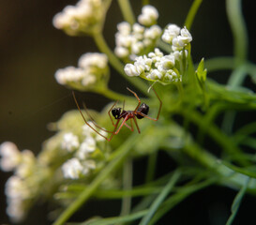
[[[102,36],[102,33],[96,33],[94,34],[94,39],[96,44],[98,45],[98,49],[101,52],[104,52],[108,55],[109,61],[112,64],[112,66],[126,79],[128,82],[131,82],[134,86],[136,86],[139,90],[143,92],[145,96],[148,96],[147,93],[147,85],[140,80],[139,78],[130,78],[124,71],[124,65],[119,61],[119,59],[113,54],[112,50],[107,45],[104,37]]]

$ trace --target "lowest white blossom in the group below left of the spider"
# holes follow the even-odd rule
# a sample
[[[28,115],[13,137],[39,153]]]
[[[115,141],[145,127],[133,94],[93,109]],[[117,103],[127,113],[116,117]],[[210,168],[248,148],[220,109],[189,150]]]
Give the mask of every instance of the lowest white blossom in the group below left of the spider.
[[[65,178],[78,179],[83,172],[83,165],[78,158],[71,158],[62,165],[61,169]]]

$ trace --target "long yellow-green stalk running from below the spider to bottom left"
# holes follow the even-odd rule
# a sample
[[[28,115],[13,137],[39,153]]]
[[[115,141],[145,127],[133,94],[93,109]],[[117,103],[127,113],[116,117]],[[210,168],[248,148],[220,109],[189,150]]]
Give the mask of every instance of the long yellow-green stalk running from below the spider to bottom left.
[[[141,140],[142,135],[146,135],[146,132],[143,132],[140,136],[137,133],[133,133],[128,140],[116,150],[116,155],[113,160],[98,174],[87,188],[84,188],[79,197],[71,203],[68,208],[66,208],[53,225],[64,224],[68,218],[70,218],[83,205],[83,203],[93,195],[99,185],[116,169],[117,166],[120,165],[124,158],[128,156],[130,149],[134,144]]]

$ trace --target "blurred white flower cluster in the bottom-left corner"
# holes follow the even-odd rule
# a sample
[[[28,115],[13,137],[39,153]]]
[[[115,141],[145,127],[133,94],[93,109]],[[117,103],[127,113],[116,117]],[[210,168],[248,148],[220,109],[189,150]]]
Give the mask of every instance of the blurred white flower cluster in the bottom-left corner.
[[[8,216],[13,221],[20,221],[25,215],[26,201],[32,198],[37,189],[31,173],[35,171],[36,159],[29,150],[20,150],[14,143],[2,143],[0,145],[0,168],[3,171],[14,171],[6,184],[8,197]]]

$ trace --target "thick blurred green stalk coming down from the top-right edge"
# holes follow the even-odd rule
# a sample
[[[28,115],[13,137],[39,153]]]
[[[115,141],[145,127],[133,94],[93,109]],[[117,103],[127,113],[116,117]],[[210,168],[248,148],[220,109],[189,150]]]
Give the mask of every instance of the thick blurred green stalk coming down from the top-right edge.
[[[233,32],[233,49],[236,65],[244,63],[248,56],[248,32],[242,13],[241,0],[226,0],[228,19]]]

